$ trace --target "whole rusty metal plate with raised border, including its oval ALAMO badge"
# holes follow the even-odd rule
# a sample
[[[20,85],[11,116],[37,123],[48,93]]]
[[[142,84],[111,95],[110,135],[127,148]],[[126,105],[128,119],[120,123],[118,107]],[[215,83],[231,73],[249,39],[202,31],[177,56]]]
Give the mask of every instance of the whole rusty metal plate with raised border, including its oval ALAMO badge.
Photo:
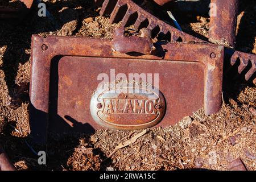
[[[130,130],[170,126],[201,107],[206,114],[218,111],[224,47],[155,46],[151,55],[126,54],[116,52],[112,40],[32,36],[31,136],[45,142],[47,131],[88,133],[101,127]],[[140,77],[136,80],[129,77],[131,74]],[[109,89],[99,87],[103,80]],[[130,88],[131,82],[133,90],[135,85],[147,85],[146,92],[114,89],[111,94],[111,84],[128,84],[121,84],[123,89]],[[145,113],[135,109],[143,102]],[[101,118],[96,114],[99,111],[105,112]]]

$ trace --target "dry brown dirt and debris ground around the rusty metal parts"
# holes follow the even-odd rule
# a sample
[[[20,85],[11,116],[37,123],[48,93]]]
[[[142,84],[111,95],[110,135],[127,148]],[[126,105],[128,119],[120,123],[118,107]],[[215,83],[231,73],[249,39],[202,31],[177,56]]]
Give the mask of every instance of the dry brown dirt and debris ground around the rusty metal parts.
[[[50,18],[40,18],[34,7],[19,22],[0,21],[0,143],[18,170],[227,170],[238,158],[248,170],[256,170],[256,88],[234,76],[224,80],[224,104],[217,114],[208,116],[200,109],[175,126],[147,129],[134,143],[117,150],[143,130],[97,130],[93,135],[49,138],[47,165],[40,166],[35,154],[40,146],[31,147],[28,139],[31,35],[112,39],[119,26],[100,16],[91,1],[44,2]],[[156,11],[145,2],[144,8],[162,17],[163,9]],[[181,16],[176,11],[174,15],[185,32],[208,38],[207,16]],[[255,16],[256,2],[241,1],[238,50],[256,53]]]

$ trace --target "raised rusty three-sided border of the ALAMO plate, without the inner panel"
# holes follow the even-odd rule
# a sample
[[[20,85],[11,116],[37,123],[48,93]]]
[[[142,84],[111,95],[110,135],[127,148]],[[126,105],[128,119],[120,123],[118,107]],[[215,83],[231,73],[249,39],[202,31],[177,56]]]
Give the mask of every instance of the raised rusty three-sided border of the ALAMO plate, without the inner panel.
[[[72,43],[72,44],[70,44]],[[71,46],[67,46],[71,45]],[[40,125],[38,131],[31,130],[34,135],[44,136],[48,125],[49,112],[49,82],[51,62],[56,56],[92,56],[92,57],[115,57],[122,59],[138,59],[138,57],[127,54],[113,52],[113,42],[104,39],[89,38],[65,38],[49,36],[42,38],[37,35],[32,36],[31,53],[31,83],[30,101],[31,114],[34,119],[31,125]],[[172,61],[193,61],[200,63],[205,68],[204,85],[204,109],[206,114],[217,112],[221,107],[222,89],[222,67],[224,57],[224,47],[213,44],[167,44],[162,45],[166,52],[164,60]],[[180,52],[180,50],[183,50]],[[191,51],[196,50],[197,54]],[[142,55],[139,59],[163,60],[162,57],[154,55]],[[196,73],[196,71],[195,71]],[[42,80],[44,78],[44,80]],[[36,118],[36,121],[35,121]],[[32,126],[33,127],[33,126]],[[32,128],[31,127],[31,128]],[[45,138],[42,140],[46,140]]]

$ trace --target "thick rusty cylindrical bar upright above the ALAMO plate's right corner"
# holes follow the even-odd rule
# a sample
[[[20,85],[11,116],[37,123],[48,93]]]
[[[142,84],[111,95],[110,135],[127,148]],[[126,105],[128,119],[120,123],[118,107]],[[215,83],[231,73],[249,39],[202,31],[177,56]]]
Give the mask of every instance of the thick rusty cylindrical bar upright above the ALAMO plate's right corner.
[[[211,0],[209,41],[236,47],[238,0]]]

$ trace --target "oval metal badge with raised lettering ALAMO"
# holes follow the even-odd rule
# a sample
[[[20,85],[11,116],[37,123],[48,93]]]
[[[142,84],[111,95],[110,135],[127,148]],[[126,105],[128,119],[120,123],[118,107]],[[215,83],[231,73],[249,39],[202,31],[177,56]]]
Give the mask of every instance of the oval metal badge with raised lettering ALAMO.
[[[164,116],[166,102],[158,89],[148,87],[98,88],[90,101],[92,118],[111,129],[135,130],[155,126]]]

